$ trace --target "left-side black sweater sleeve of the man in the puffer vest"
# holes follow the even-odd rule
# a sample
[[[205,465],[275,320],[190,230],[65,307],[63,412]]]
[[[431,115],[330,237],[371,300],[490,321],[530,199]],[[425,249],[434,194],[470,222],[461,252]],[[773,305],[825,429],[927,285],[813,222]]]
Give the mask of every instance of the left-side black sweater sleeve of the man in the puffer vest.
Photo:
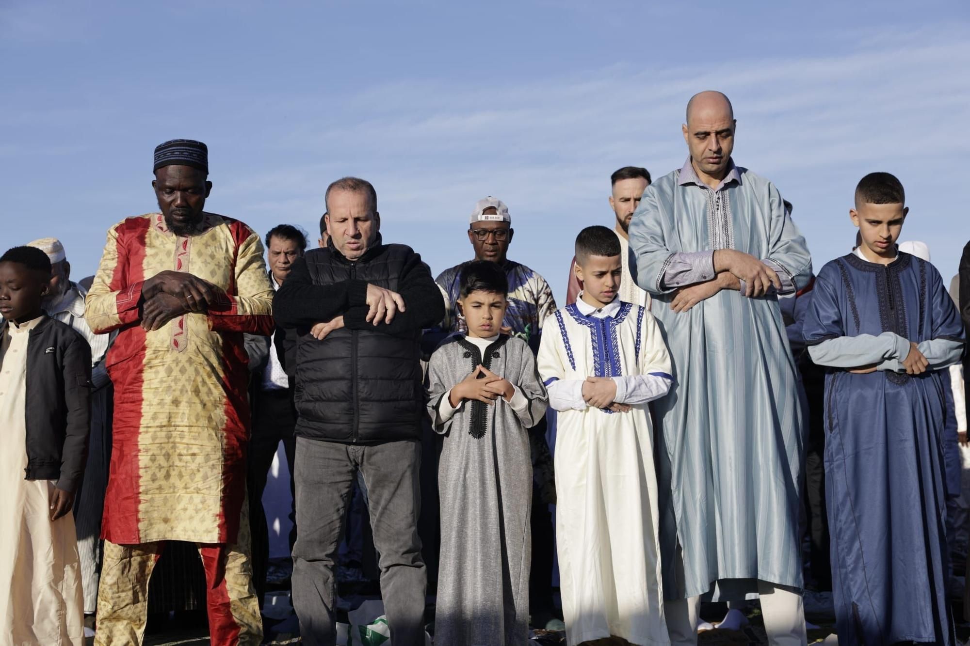
[[[273,300],[276,325],[307,329],[343,314],[354,302],[367,299],[367,283],[344,280],[332,285],[314,285],[307,260],[299,258]]]

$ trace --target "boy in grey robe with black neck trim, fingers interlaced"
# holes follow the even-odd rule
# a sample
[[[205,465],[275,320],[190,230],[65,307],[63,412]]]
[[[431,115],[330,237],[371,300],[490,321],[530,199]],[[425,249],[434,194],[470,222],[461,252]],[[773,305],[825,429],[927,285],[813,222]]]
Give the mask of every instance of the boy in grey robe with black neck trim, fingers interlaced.
[[[428,365],[429,411],[444,436],[435,640],[525,646],[533,492],[528,429],[545,414],[547,395],[529,345],[500,334],[508,293],[501,268],[470,263],[460,291],[468,334],[445,341]]]

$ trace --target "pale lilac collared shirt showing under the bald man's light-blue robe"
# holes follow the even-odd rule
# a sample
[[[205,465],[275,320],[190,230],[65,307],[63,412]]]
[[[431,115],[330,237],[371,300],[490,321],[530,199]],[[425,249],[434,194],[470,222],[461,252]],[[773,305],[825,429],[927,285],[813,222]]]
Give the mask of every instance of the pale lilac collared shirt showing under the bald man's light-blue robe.
[[[718,183],[716,188],[712,189],[697,177],[694,164],[691,163],[691,157],[687,158],[684,166],[680,169],[677,185],[694,184],[707,192],[707,224],[711,249],[693,252],[678,251],[670,254],[666,271],[663,273],[664,288],[693,285],[697,282],[712,280],[717,276],[714,271],[714,251],[716,249],[734,248],[734,226],[731,221],[730,192],[727,191],[727,187],[740,181],[741,174],[734,165],[734,160],[729,159],[727,175]],[[780,294],[795,291],[792,276],[781,265],[770,258],[762,259],[761,262],[778,275],[778,279],[782,283],[782,288],[779,290]],[[744,294],[744,292],[745,286],[742,282],[741,293]]]

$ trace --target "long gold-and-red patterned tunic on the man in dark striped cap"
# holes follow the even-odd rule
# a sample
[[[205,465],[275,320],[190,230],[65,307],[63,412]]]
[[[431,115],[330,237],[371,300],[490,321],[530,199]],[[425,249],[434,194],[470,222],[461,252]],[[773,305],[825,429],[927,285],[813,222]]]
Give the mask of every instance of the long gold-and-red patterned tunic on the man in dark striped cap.
[[[207,313],[146,332],[142,286],[165,270],[220,293]],[[114,420],[103,538],[236,542],[249,432],[242,333],[271,334],[272,304],[263,245],[242,222],[205,213],[198,233],[177,236],[148,213],[109,230],[85,310],[95,333],[118,330],[106,359]]]

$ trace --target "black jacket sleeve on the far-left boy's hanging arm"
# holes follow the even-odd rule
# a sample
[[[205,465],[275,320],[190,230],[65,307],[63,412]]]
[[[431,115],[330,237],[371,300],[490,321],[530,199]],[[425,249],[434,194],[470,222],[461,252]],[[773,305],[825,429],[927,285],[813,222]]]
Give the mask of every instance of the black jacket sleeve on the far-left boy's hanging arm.
[[[91,431],[91,348],[80,335],[64,350],[64,402],[67,425],[61,449],[57,488],[77,492],[87,463],[87,436]]]

